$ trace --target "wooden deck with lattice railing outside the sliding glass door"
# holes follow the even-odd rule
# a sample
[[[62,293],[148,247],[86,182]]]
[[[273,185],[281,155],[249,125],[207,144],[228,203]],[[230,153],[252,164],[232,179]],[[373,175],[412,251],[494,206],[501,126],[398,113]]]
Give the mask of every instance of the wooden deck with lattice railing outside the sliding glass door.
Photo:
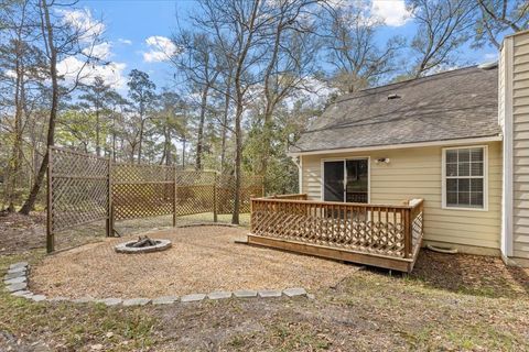
[[[396,206],[313,201],[304,194],[253,198],[248,242],[409,273],[422,219],[422,199]]]

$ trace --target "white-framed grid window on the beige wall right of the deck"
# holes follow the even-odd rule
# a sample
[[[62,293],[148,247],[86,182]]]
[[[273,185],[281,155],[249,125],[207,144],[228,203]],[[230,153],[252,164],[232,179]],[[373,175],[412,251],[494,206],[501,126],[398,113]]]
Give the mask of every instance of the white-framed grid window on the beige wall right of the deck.
[[[443,150],[443,206],[486,208],[486,147]]]

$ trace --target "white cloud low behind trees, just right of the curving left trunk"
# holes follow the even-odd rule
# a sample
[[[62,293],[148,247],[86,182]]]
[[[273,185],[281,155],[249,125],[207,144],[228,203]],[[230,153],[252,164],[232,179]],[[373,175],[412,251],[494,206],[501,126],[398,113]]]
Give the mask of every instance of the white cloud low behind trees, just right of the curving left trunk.
[[[99,76],[115,89],[125,89],[127,78],[123,76],[123,70],[126,67],[127,65],[123,63],[88,64],[84,66],[84,62],[75,56],[67,57],[57,64],[58,74],[66,81],[72,82],[79,76],[82,82],[90,84]]]

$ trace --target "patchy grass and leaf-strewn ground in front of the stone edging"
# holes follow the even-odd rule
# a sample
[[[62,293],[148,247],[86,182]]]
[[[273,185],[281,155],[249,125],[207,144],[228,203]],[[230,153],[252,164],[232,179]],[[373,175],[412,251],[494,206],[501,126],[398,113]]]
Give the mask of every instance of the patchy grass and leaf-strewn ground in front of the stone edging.
[[[11,243],[18,232],[2,227]],[[0,255],[0,275],[44,256],[17,250]],[[360,271],[313,300],[107,308],[0,290],[0,351],[529,351],[528,276],[497,258],[422,251],[410,276]]]

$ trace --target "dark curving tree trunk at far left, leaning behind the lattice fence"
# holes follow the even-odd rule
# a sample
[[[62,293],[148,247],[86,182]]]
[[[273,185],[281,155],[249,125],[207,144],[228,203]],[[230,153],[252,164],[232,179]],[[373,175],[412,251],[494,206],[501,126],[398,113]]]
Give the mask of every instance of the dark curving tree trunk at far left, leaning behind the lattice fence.
[[[57,117],[58,109],[58,81],[57,81],[57,51],[53,42],[53,26],[50,20],[50,9],[47,8],[46,0],[41,0],[41,8],[44,11],[44,29],[43,34],[45,35],[47,48],[50,52],[50,76],[52,79],[52,106],[50,109],[50,120],[47,125],[47,139],[46,139],[46,153],[36,174],[35,182],[31,188],[30,195],[25,200],[24,205],[20,209],[20,213],[29,215],[31,210],[35,207],[36,197],[41,190],[42,182],[47,169],[47,163],[50,161],[50,146],[55,144],[55,120]]]

